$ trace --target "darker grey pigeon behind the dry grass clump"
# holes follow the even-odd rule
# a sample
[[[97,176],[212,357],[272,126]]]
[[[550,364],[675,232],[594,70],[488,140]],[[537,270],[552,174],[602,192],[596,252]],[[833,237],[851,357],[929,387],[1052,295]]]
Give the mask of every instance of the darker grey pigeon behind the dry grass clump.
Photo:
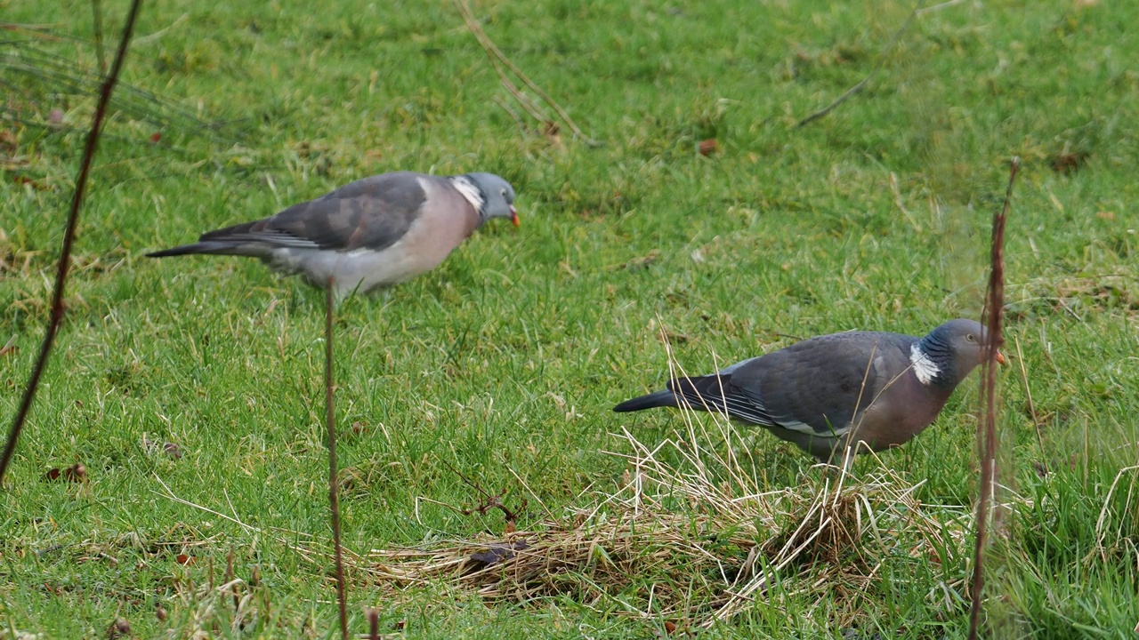
[[[737,362],[719,374],[675,378],[666,391],[614,411],[690,407],[765,427],[820,462],[850,467],[857,444],[904,444],[928,427],[953,388],[985,358],[975,320],[950,320],[925,337],[880,331],[818,336]],[[997,361],[1003,363],[1000,352]]]

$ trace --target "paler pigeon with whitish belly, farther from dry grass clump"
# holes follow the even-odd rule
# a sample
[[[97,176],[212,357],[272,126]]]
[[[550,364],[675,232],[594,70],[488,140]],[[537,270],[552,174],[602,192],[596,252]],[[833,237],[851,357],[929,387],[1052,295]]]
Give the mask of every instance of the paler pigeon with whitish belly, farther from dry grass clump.
[[[429,271],[491,218],[518,225],[514,188],[498,175],[384,173],[147,255],[260,257],[274,271],[301,273],[318,287],[331,278],[343,297]]]

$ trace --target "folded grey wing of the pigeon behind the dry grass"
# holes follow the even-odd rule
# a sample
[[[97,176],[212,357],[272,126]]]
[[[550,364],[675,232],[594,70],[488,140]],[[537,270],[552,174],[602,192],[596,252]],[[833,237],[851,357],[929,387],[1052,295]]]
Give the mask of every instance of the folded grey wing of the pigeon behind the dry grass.
[[[811,338],[738,368],[732,386],[763,407],[775,425],[841,436],[857,412],[906,370],[913,339],[870,331]]]

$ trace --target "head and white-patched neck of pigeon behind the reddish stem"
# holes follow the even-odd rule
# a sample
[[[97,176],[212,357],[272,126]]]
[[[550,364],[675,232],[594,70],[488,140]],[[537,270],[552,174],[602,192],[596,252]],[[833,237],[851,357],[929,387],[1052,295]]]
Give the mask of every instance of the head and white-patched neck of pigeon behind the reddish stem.
[[[985,359],[989,331],[976,320],[957,319],[913,344],[910,362],[924,385],[953,388]],[[997,362],[1005,363],[998,351]]]

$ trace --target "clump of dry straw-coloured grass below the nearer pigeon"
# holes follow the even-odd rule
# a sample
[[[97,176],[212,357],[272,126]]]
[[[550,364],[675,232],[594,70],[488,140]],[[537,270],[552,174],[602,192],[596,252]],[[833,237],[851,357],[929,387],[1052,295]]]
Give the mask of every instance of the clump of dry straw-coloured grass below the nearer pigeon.
[[[623,432],[631,453],[617,456],[629,469],[588,508],[502,536],[374,550],[355,558],[366,563],[355,569],[390,585],[393,598],[443,581],[490,600],[563,596],[685,626],[711,625],[760,598],[818,592],[847,602],[831,622],[850,624],[891,558],[962,557],[968,509],[921,504],[913,498],[921,483],[879,465],[861,478],[819,469],[821,479],[764,490],[734,452],[732,425],[706,418],[708,432],[686,418],[687,433],[655,448]],[[953,575],[965,575],[960,563]],[[962,584],[932,585],[933,605],[960,602],[952,593]]]

